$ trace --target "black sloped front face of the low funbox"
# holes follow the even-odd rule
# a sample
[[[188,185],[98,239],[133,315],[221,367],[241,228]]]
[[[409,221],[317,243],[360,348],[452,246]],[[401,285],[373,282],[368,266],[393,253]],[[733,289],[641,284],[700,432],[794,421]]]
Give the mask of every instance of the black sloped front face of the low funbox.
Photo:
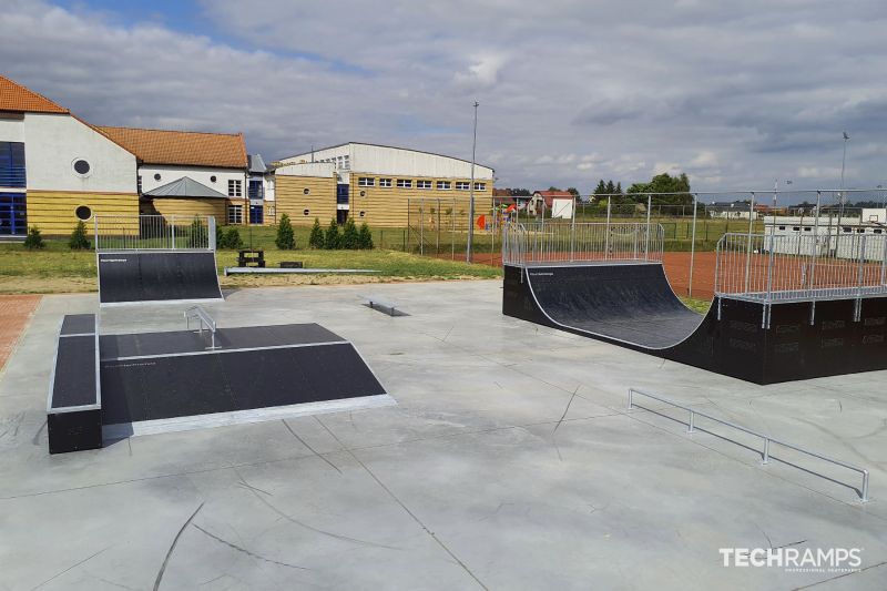
[[[102,361],[105,425],[375,396],[350,343]]]

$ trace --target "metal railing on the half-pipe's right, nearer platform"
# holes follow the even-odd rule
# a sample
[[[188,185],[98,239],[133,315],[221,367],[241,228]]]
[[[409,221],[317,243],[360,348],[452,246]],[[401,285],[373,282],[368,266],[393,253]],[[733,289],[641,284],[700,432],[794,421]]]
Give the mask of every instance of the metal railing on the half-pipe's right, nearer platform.
[[[718,241],[716,295],[771,303],[887,294],[887,234],[775,227]]]

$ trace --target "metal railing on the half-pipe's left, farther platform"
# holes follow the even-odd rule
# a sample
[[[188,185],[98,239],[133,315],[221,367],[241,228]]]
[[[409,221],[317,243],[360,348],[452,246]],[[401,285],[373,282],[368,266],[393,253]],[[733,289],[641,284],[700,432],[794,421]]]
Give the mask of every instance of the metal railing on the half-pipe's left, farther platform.
[[[511,265],[662,261],[662,226],[650,223],[511,223],[502,230],[502,262]]]

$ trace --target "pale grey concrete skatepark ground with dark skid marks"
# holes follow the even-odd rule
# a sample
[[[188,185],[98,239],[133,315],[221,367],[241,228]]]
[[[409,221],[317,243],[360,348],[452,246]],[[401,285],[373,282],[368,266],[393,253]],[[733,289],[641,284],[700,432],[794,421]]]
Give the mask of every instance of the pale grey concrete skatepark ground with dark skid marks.
[[[368,289],[410,315],[361,306]],[[0,589],[887,588],[887,373],[761,387],[503,317],[500,298],[230,293],[206,306],[221,326],[317,322],[398,405],[49,456],[55,330],[96,298],[45,297],[0,377]],[[181,310],[103,310],[102,330],[180,329]],[[630,386],[867,467],[873,500],[848,470],[782,449],[807,471],[761,466],[751,437],[626,411]],[[860,548],[861,570],[718,552],[779,547]]]

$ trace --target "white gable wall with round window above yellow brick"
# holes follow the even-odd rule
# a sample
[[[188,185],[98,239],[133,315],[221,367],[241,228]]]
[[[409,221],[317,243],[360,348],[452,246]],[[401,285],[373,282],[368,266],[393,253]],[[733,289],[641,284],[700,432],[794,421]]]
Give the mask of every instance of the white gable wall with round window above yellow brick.
[[[135,156],[71,115],[24,114],[29,191],[135,193]],[[90,172],[74,172],[75,160]]]

